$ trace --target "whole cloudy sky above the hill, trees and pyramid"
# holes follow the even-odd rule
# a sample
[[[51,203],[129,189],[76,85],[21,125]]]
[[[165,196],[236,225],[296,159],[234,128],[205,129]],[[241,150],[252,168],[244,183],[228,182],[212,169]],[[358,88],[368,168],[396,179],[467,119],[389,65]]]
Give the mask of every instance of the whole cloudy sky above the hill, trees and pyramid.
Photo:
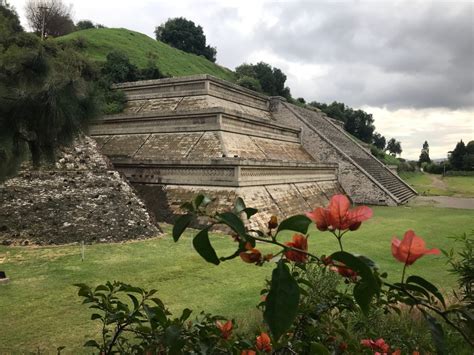
[[[10,0],[22,17],[26,0]],[[474,139],[474,2],[63,0],[73,19],[154,37],[184,16],[204,28],[219,64],[265,61],[294,97],[340,101],[417,159]]]

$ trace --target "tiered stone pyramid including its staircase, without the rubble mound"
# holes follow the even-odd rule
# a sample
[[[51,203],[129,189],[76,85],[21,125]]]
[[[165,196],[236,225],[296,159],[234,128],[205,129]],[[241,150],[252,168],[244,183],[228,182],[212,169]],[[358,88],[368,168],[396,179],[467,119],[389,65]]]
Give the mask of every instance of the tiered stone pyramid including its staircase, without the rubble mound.
[[[397,205],[416,192],[320,111],[209,75],[116,85],[128,106],[91,129],[101,151],[156,218],[203,192],[228,207],[302,213],[345,191],[355,202]]]

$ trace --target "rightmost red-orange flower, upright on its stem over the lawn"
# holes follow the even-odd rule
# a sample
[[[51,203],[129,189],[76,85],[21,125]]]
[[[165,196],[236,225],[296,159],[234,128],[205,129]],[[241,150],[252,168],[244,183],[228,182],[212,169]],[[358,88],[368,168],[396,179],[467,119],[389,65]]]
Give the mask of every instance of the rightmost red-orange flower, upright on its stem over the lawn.
[[[392,255],[406,265],[411,265],[428,254],[439,254],[439,249],[426,249],[425,241],[411,229],[405,232],[402,241],[396,237],[392,239]]]

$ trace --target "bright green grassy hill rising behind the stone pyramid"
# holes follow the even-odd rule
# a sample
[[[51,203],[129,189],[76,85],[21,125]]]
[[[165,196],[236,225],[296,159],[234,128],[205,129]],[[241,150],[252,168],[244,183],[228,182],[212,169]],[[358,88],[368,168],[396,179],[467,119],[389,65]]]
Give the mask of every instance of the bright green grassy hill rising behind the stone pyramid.
[[[88,29],[60,37],[57,41],[80,41],[81,51],[97,62],[104,62],[109,52],[118,50],[127,54],[139,68],[144,68],[150,57],[156,58],[156,65],[167,76],[211,74],[224,80],[235,80],[231,70],[204,57],[183,52],[125,28]]]

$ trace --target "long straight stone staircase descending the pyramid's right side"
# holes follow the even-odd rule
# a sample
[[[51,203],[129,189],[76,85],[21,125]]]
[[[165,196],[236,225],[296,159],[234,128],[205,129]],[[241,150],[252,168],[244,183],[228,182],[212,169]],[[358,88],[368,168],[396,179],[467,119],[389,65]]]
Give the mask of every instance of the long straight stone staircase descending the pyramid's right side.
[[[289,104],[285,105],[290,106]],[[337,147],[362,168],[365,173],[382,185],[387,192],[396,198],[398,204],[406,203],[409,199],[417,195],[416,191],[399,176],[392,173],[382,162],[355,142],[343,128],[332,123],[323,113],[303,109],[294,105],[291,105],[289,108],[305,118],[316,130],[324,132],[324,136],[330,144]]]

